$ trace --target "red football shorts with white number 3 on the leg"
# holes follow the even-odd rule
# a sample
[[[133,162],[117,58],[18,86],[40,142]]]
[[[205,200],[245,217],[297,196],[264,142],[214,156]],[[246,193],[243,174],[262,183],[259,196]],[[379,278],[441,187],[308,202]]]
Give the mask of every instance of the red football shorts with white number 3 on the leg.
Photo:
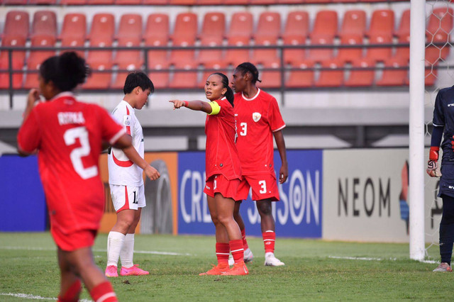
[[[277,189],[275,174],[243,175],[240,186],[238,186],[237,200],[247,199],[250,188],[253,189],[253,201],[261,201],[263,199],[279,201],[279,190]]]

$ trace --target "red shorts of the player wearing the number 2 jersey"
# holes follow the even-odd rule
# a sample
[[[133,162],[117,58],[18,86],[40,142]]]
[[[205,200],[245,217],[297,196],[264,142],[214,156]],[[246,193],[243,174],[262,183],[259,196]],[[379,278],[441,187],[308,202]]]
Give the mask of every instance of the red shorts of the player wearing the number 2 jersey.
[[[82,249],[82,247],[91,247],[94,244],[97,230],[77,230],[75,232],[65,234],[60,228],[50,228],[50,233],[54,238],[55,243],[61,250],[72,252]]]

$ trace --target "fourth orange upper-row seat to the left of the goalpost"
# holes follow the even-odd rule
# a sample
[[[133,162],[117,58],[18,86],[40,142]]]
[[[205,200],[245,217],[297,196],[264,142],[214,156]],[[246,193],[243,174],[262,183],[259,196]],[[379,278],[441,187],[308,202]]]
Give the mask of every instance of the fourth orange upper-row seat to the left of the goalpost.
[[[311,45],[333,45],[338,30],[338,13],[336,11],[319,11],[316,15],[314,29],[310,34]],[[333,58],[333,48],[311,48],[307,59],[322,62]]]

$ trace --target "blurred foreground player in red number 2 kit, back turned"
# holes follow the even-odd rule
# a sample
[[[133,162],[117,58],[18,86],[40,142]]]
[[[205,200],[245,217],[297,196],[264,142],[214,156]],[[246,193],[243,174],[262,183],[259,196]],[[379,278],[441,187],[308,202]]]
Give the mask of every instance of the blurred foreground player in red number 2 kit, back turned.
[[[40,65],[39,91],[28,94],[18,152],[38,152],[38,167],[57,245],[61,283],[58,301],[78,301],[81,280],[94,301],[117,301],[94,263],[92,245],[104,213],[99,154],[107,144],[128,150],[131,138],[104,108],[77,101],[71,91],[89,68],[74,52],[50,57]],[[40,94],[46,102],[35,104]],[[131,158],[136,162],[137,158]]]

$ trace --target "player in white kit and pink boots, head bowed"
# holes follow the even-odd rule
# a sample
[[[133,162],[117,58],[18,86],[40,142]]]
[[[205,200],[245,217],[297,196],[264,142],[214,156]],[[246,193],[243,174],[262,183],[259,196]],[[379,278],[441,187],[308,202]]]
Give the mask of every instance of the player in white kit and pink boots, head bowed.
[[[158,179],[159,172],[150,166],[144,157],[143,130],[135,109],[142,109],[148,96],[154,91],[153,82],[143,72],[131,72],[123,86],[123,101],[112,112],[114,119],[123,125],[126,134],[131,136],[134,148],[128,152],[140,156],[140,165],[129,160],[131,154],[113,147],[109,149],[109,187],[116,211],[116,224],[107,237],[106,276],[118,276],[118,257],[121,259],[121,276],[148,275],[149,272],[133,264],[134,233],[145,207],[145,187],[143,171],[150,179]]]

